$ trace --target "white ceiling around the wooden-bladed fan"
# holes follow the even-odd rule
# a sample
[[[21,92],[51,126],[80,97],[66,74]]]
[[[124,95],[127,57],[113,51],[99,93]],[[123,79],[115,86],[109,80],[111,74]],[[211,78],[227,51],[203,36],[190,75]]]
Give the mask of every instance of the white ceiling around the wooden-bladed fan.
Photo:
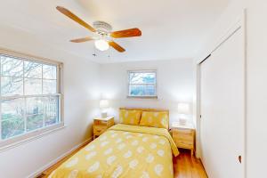
[[[192,58],[230,0],[1,0],[2,25],[32,34],[44,44],[97,62]],[[142,29],[141,37],[116,39],[125,53],[99,52],[93,42],[69,39],[91,32],[58,12],[68,8],[89,24],[104,20],[114,30]],[[97,56],[93,57],[96,51]],[[110,57],[108,57],[110,54]]]

